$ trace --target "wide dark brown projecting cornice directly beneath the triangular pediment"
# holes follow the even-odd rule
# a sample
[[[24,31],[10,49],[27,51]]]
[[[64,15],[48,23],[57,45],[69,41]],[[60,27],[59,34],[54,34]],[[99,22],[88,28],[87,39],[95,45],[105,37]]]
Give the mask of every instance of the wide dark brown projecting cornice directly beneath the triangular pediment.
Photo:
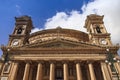
[[[7,49],[10,49],[7,51]],[[110,51],[113,54],[117,54],[117,48],[112,47]],[[3,54],[107,54],[106,48],[84,48],[84,47],[75,47],[75,48],[12,48],[4,47],[2,48]]]

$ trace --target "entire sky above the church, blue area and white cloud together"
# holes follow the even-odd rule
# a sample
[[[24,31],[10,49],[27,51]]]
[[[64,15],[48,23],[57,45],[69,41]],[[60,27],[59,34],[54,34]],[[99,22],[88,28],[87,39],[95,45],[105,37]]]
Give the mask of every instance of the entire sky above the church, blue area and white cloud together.
[[[0,0],[0,45],[7,45],[15,16],[31,16],[33,32],[57,26],[85,32],[84,20],[93,13],[105,15],[105,26],[112,33],[113,43],[120,43],[116,37],[120,32],[119,4],[120,0]]]

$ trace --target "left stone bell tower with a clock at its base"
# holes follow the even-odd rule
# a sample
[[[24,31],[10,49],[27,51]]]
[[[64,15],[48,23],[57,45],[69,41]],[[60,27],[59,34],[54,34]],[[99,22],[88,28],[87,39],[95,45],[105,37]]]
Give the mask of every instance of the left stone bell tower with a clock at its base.
[[[8,46],[19,47],[28,42],[28,38],[33,28],[31,17],[15,17],[16,23],[13,33],[9,36]]]

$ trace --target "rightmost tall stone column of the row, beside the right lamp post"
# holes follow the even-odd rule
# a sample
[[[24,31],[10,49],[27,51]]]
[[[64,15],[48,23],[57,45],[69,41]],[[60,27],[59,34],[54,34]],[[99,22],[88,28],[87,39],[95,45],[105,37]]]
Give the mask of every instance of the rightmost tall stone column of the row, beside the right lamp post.
[[[102,73],[103,73],[104,80],[112,80],[111,77],[110,77],[110,73],[108,71],[106,63],[101,62],[101,70],[102,70]]]

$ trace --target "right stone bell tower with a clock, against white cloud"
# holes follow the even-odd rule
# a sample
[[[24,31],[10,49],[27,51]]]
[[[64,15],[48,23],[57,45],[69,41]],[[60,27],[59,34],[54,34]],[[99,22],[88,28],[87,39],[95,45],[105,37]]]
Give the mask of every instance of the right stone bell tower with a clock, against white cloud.
[[[104,22],[104,16],[91,14],[87,16],[85,28],[89,32],[89,40],[93,44],[112,45],[110,33],[107,32]]]

